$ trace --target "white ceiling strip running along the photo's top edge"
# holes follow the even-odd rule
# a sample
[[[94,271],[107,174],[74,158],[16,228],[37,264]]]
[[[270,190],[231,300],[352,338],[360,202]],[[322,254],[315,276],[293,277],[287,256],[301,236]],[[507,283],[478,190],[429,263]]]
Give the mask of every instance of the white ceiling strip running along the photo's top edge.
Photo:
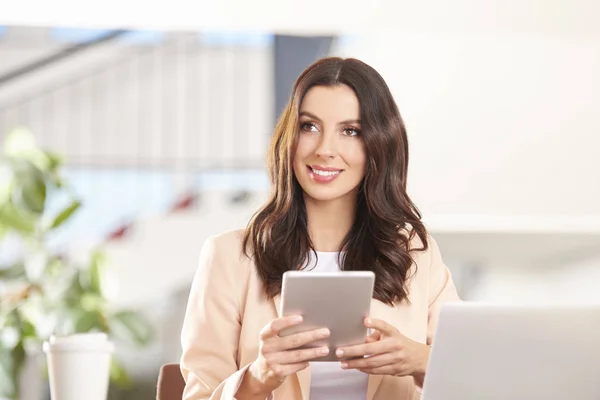
[[[140,12],[143,9],[144,12]],[[316,12],[315,10],[318,10]],[[594,0],[227,0],[202,3],[171,0],[148,7],[141,0],[77,0],[52,4],[21,0],[0,22],[27,25],[129,26],[160,29],[253,28],[288,34],[331,34],[360,29],[451,32],[598,33],[600,7]]]

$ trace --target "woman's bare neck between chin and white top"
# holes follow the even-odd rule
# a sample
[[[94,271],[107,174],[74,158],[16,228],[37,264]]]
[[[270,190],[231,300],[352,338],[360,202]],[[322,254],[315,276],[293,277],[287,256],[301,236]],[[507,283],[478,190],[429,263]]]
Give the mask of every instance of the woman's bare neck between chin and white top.
[[[316,201],[305,198],[308,234],[316,251],[340,251],[356,213],[356,199]]]

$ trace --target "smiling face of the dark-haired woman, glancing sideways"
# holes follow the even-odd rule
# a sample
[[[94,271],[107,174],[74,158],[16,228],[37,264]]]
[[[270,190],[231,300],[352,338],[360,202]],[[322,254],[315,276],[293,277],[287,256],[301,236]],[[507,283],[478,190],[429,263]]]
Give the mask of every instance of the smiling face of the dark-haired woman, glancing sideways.
[[[300,105],[294,174],[316,201],[356,198],[365,176],[360,103],[346,85],[311,88]]]

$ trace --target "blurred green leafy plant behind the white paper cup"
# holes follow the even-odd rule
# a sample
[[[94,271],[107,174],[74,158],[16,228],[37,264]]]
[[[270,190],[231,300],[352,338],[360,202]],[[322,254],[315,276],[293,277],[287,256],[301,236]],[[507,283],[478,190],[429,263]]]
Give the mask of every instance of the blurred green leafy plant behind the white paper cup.
[[[101,249],[76,261],[50,246],[81,207],[61,166],[25,129],[11,132],[0,153],[0,397],[18,398],[28,351],[39,351],[51,335],[100,331],[139,346],[152,338],[140,314],[111,307],[110,268]],[[60,199],[62,209],[52,213],[49,204]],[[3,257],[3,248],[18,251]],[[111,378],[130,384],[117,359]]]

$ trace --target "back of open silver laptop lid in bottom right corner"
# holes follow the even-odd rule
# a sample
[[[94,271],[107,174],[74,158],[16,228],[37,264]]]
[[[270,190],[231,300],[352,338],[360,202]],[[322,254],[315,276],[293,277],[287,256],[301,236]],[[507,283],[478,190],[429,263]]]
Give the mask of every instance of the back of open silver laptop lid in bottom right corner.
[[[422,399],[599,400],[600,305],[445,305]]]

